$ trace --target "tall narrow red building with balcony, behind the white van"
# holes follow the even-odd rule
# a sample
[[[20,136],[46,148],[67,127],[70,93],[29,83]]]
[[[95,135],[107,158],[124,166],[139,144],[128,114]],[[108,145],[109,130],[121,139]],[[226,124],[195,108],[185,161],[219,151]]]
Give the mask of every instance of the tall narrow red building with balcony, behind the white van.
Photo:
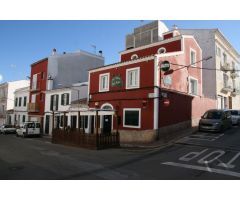
[[[48,58],[39,60],[31,65],[30,96],[28,115],[30,121],[43,124],[45,91],[47,89]]]

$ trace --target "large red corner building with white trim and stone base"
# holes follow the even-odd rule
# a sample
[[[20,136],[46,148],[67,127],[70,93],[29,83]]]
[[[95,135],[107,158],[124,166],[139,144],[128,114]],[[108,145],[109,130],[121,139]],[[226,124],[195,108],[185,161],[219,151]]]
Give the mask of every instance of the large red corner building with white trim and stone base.
[[[215,107],[215,101],[202,96],[205,61],[197,62],[202,51],[193,36],[172,30],[161,41],[120,56],[119,63],[89,71],[89,107],[117,111],[121,142],[150,142],[194,126]],[[170,71],[160,68],[164,63]],[[111,112],[101,116],[104,133],[116,129],[113,118]]]

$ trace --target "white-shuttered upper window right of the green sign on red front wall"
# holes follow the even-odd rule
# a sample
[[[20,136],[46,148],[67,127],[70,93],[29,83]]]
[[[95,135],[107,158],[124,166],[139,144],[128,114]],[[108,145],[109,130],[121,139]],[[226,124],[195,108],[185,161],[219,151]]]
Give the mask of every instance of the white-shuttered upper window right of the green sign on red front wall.
[[[126,89],[139,88],[140,68],[127,69]]]

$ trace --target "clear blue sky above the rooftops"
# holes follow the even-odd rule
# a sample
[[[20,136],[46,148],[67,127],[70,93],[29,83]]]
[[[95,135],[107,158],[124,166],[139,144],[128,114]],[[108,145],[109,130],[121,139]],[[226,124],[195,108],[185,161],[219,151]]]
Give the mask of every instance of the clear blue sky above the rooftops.
[[[25,79],[30,64],[59,53],[79,49],[102,50],[105,64],[119,61],[125,35],[149,21],[0,21],[0,82]],[[240,52],[240,21],[163,20],[171,28],[219,28]],[[2,78],[1,78],[2,76]],[[1,80],[2,79],[2,80]]]

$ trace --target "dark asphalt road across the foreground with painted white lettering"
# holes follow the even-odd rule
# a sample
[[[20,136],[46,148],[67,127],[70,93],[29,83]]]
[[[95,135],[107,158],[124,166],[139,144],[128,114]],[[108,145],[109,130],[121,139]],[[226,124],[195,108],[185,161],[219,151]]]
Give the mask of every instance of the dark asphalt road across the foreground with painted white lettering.
[[[240,128],[142,150],[96,151],[0,135],[0,179],[240,179]]]

